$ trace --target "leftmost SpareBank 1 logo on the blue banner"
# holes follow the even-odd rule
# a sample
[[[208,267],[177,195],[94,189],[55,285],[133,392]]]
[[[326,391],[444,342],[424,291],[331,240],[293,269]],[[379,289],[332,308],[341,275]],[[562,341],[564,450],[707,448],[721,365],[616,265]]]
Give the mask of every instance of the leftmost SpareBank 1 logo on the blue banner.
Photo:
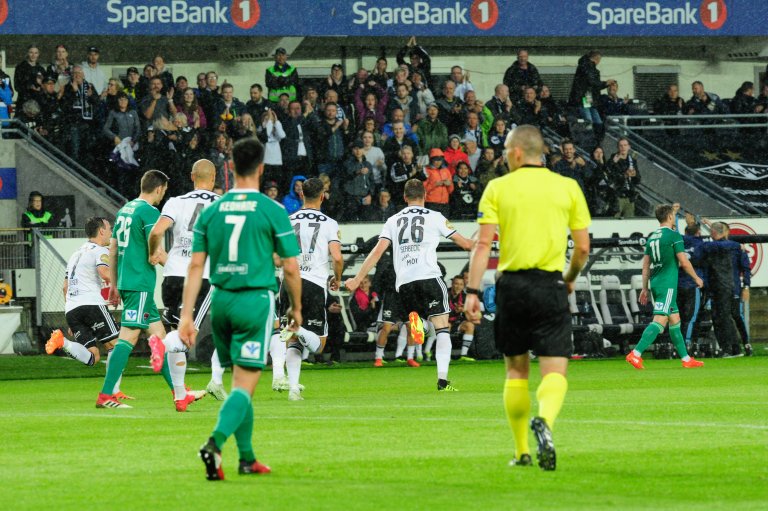
[[[108,0],[106,9],[109,13],[107,23],[120,25],[123,29],[131,25],[233,24],[248,30],[261,18],[258,0],[232,0],[231,9],[227,8],[224,0],[154,0],[150,5],[142,5],[138,1]]]

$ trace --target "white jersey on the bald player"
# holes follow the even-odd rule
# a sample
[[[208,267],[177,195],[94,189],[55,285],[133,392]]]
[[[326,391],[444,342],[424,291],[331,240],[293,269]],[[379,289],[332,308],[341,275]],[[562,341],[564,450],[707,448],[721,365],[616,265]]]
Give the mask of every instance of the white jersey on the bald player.
[[[187,268],[192,261],[192,229],[200,212],[219,198],[218,194],[207,190],[192,190],[178,197],[171,197],[163,206],[162,216],[173,220],[173,246],[168,251],[168,261],[163,270],[164,277],[186,277]],[[209,273],[208,261],[205,262],[203,278]]]

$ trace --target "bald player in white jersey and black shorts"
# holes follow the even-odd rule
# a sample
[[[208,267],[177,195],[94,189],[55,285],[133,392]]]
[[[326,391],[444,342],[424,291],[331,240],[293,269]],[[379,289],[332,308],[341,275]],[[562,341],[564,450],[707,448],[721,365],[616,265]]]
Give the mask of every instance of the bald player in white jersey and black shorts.
[[[195,162],[192,166],[191,178],[194,190],[169,199],[163,206],[160,218],[149,234],[149,250],[151,254],[154,254],[162,249],[165,232],[173,227],[173,246],[168,251],[168,259],[163,269],[162,287],[163,305],[165,305],[164,319],[171,328],[178,325],[181,317],[184,278],[192,260],[192,228],[200,212],[219,198],[217,194],[211,191],[216,178],[216,167],[212,162],[208,160]],[[198,329],[208,313],[211,291],[212,288],[208,284],[208,265],[206,264],[203,273],[202,292],[195,303],[195,327]],[[187,347],[181,342],[175,329],[165,336],[163,344],[168,356],[174,401],[183,401],[187,399],[187,390],[184,385],[184,375],[187,370]],[[216,399],[226,399],[227,393],[222,381],[224,369],[219,363],[216,351],[211,357],[211,374],[211,382],[206,387],[206,392]]]

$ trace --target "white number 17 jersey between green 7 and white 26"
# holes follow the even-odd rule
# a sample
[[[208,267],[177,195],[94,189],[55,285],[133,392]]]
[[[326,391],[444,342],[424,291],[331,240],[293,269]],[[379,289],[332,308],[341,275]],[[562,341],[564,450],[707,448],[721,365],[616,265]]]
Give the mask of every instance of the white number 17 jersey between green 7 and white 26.
[[[339,224],[316,209],[300,209],[290,216],[299,242],[301,278],[321,286],[328,284],[328,244],[339,241]]]

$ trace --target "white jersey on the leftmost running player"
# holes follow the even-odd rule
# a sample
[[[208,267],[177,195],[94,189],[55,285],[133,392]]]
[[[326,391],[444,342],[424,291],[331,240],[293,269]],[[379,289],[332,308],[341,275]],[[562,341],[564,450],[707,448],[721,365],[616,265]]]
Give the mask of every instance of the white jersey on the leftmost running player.
[[[109,267],[109,248],[87,241],[67,263],[67,298],[64,311],[81,305],[104,305],[99,266]]]

